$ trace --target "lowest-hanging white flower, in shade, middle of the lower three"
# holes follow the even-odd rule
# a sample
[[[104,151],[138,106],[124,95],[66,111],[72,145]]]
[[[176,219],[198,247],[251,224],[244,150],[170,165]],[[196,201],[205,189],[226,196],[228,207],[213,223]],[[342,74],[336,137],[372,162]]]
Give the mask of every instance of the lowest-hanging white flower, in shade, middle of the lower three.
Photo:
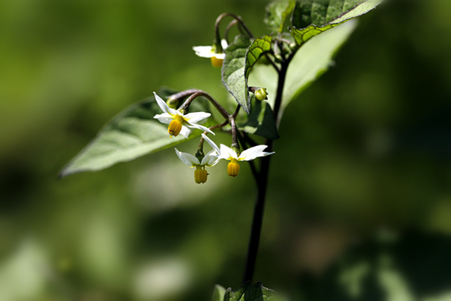
[[[208,143],[213,143],[213,141],[211,141],[206,135],[202,134],[202,136],[204,137],[205,140],[207,140]],[[211,144],[210,144],[211,145]],[[216,146],[216,144],[214,144],[214,146]],[[180,158],[180,160],[186,164],[187,166],[191,167],[191,168],[196,168],[196,170],[194,171],[194,181],[197,184],[201,184],[201,183],[205,183],[206,179],[207,179],[207,172],[205,170],[205,167],[211,167],[216,165],[216,163],[218,163],[219,161],[219,154],[217,153],[219,151],[219,149],[216,147],[213,147],[212,150],[210,150],[210,152],[208,154],[206,154],[203,158],[202,161],[199,162],[199,159],[197,159],[195,156],[192,156],[191,154],[188,153],[182,153],[180,152],[177,148],[175,148],[175,154],[177,154],[178,158]]]

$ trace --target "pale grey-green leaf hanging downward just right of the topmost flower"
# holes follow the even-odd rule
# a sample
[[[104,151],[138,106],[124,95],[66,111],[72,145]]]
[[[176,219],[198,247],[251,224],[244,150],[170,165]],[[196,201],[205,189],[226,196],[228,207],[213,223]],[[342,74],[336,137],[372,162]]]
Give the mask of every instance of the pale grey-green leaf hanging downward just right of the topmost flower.
[[[236,36],[232,44],[225,49],[221,77],[225,88],[235,97],[238,104],[249,114],[251,104],[245,77],[246,52],[251,40],[246,36]]]

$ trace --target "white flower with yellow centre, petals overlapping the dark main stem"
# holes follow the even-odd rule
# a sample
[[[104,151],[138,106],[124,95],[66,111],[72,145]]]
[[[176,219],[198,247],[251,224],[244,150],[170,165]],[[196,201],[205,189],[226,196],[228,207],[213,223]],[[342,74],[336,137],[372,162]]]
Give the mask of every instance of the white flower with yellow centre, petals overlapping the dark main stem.
[[[251,161],[256,158],[269,156],[275,153],[263,152],[266,147],[268,147],[268,145],[253,146],[251,148],[243,150],[240,156],[238,156],[237,152],[234,149],[221,144],[220,154],[218,158],[230,161],[227,165],[227,174],[231,177],[236,177],[240,172],[240,165],[238,164],[239,161]]]

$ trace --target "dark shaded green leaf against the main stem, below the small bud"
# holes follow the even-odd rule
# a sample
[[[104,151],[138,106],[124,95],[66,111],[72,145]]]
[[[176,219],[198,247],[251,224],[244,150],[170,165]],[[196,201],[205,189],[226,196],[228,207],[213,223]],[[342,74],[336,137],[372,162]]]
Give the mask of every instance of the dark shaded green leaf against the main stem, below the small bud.
[[[251,97],[251,112],[247,120],[237,124],[238,129],[247,133],[260,135],[268,139],[278,139],[276,120],[271,106],[266,101],[258,101]]]

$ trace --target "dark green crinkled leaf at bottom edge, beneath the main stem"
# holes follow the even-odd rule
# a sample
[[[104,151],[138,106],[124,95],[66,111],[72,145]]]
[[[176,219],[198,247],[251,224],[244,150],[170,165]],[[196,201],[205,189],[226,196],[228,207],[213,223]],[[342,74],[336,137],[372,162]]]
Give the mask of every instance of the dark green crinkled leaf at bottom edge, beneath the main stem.
[[[233,291],[228,288],[225,291],[224,301],[284,301],[285,298],[274,290],[266,288],[261,282],[251,284],[246,282],[240,289]]]

